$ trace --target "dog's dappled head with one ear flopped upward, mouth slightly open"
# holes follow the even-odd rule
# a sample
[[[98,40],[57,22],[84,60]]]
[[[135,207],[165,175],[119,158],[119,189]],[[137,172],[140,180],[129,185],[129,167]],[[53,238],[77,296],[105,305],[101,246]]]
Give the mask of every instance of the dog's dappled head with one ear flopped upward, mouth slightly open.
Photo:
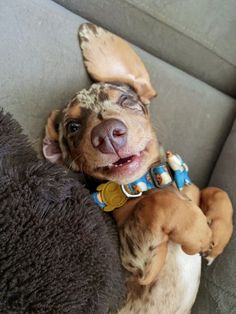
[[[122,39],[89,24],[80,29],[80,37],[88,72],[99,83],[51,113],[44,156],[89,176],[126,184],[141,177],[158,159],[158,142],[147,108],[155,91],[143,63]],[[117,40],[122,53],[112,57],[110,50]],[[101,42],[102,52],[97,47]],[[133,70],[129,60],[134,56]],[[108,69],[101,66],[104,58],[112,64]]]

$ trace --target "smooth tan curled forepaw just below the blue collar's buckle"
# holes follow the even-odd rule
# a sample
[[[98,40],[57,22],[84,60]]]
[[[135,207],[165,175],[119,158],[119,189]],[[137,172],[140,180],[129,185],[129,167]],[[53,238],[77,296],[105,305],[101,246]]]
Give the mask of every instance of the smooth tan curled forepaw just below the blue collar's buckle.
[[[189,255],[209,250],[212,231],[206,216],[193,201],[173,189],[154,193],[148,200],[149,204],[143,204],[149,205],[143,220],[153,234],[167,236]],[[159,238],[161,243],[163,239]]]

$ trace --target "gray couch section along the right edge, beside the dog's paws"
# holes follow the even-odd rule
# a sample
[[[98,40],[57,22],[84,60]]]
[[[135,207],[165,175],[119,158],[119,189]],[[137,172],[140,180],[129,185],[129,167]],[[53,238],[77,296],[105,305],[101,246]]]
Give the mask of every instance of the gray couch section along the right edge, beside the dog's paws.
[[[210,185],[226,190],[236,209],[236,121],[212,174]],[[236,215],[234,214],[234,228]],[[236,230],[229,246],[212,266],[203,267],[193,314],[236,313]],[[202,311],[204,309],[204,311]]]

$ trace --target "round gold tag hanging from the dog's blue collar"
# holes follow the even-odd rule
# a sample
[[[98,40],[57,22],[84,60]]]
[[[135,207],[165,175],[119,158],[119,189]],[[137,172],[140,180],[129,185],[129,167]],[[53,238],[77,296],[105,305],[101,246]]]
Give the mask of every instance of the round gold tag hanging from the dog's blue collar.
[[[115,182],[100,184],[97,187],[97,191],[100,192],[102,202],[106,204],[103,208],[105,212],[110,212],[115,208],[123,206],[128,200],[120,185]]]

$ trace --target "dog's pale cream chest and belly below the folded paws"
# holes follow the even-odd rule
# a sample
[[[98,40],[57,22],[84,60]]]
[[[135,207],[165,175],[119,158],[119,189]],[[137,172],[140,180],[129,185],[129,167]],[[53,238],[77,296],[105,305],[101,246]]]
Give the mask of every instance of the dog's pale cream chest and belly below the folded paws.
[[[143,288],[138,298],[129,298],[119,314],[187,314],[196,298],[201,257],[187,255],[169,243],[166,263],[157,281]]]

